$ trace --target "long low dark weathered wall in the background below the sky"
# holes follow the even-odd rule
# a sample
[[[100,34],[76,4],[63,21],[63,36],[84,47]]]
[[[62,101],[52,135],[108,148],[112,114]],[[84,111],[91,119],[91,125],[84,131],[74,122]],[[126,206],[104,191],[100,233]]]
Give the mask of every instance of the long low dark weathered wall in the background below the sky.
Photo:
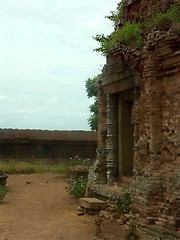
[[[52,160],[96,157],[97,133],[0,129],[0,158]]]

